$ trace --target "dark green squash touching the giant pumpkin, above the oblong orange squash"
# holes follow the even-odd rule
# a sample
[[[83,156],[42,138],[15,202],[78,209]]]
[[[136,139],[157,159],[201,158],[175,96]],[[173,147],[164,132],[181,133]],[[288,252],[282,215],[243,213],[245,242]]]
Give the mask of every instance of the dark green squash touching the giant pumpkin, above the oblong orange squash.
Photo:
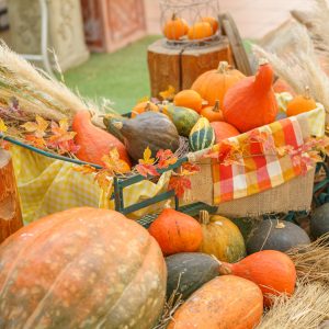
[[[203,284],[218,275],[218,262],[201,252],[181,252],[166,258],[168,281],[167,298],[174,291],[186,299]]]

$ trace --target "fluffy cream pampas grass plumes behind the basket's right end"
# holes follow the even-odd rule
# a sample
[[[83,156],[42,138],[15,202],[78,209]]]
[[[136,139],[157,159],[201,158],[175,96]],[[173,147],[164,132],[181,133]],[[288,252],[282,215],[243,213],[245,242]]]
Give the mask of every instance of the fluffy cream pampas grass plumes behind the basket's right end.
[[[309,87],[313,98],[329,109],[329,78],[322,70],[313,41],[306,27],[298,23],[292,24],[292,52],[276,54],[253,45],[259,57],[265,57],[273,66],[275,73],[284,79],[297,93],[304,93]],[[283,47],[284,48],[284,47]]]

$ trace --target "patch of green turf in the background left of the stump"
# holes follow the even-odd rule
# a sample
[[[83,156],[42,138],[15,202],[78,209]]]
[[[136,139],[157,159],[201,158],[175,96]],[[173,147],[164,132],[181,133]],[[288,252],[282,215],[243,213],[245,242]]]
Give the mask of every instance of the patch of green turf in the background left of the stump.
[[[65,72],[65,82],[82,97],[104,97],[113,107],[131,112],[136,101],[150,94],[147,47],[159,36],[147,36],[113,54],[92,54],[83,65]]]

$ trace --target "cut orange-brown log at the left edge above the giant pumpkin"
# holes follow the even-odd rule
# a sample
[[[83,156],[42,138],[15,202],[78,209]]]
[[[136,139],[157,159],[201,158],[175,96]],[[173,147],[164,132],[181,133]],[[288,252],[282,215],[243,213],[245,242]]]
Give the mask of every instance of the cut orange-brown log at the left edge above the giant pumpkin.
[[[11,156],[0,149],[0,243],[23,226]]]

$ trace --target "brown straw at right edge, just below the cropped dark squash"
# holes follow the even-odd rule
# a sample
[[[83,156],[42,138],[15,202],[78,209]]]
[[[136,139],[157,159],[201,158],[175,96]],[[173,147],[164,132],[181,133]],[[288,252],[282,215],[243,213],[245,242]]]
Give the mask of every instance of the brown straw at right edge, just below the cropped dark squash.
[[[329,290],[329,232],[308,246],[300,246],[286,253],[295,263],[297,276],[308,282],[319,281]],[[329,304],[329,299],[328,299]]]

